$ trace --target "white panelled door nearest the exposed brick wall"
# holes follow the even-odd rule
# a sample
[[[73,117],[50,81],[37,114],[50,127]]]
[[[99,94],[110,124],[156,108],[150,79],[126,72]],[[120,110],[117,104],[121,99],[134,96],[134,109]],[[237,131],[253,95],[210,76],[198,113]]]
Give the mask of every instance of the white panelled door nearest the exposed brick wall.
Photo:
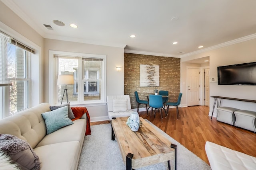
[[[199,68],[188,68],[188,106],[199,105]]]

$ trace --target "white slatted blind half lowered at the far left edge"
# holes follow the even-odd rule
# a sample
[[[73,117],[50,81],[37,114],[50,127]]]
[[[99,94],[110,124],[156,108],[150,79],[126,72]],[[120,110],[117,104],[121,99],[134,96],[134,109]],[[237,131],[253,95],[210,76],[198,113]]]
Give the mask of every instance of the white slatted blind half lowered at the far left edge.
[[[11,86],[10,80],[8,79],[8,61],[11,61],[11,38],[0,32],[0,86]]]

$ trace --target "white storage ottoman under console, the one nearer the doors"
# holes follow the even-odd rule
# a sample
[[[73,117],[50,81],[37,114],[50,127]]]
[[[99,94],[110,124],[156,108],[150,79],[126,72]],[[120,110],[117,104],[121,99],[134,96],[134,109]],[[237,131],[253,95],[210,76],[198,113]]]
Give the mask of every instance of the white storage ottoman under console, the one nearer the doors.
[[[234,125],[236,121],[236,117],[234,115],[234,111],[239,110],[233,107],[218,107],[217,108],[217,121],[221,121],[224,123],[228,123],[230,125]]]

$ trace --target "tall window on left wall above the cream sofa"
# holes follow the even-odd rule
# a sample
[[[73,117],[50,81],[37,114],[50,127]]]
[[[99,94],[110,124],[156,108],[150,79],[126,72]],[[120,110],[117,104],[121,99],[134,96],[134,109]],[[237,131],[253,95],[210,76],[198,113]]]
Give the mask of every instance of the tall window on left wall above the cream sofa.
[[[0,32],[0,103],[5,115],[28,108],[31,53],[19,46],[17,41]]]

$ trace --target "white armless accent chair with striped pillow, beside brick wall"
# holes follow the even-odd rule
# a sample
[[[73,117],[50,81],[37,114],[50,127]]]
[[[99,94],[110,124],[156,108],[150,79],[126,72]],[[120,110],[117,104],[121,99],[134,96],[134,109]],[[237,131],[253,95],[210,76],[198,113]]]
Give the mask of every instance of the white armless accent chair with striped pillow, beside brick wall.
[[[112,117],[129,117],[132,111],[130,96],[107,96],[108,105],[108,117],[112,120]]]

